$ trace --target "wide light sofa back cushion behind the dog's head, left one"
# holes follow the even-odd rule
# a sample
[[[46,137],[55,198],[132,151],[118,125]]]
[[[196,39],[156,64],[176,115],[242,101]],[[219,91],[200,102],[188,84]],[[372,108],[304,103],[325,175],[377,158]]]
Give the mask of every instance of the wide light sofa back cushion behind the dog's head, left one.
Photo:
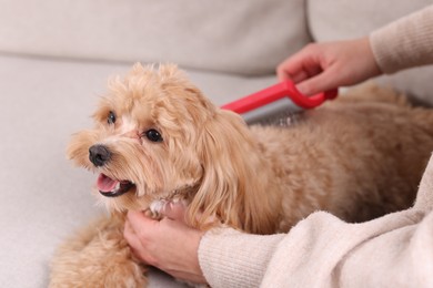
[[[309,41],[303,0],[0,0],[0,51],[264,74]],[[24,4],[26,3],[26,4]]]

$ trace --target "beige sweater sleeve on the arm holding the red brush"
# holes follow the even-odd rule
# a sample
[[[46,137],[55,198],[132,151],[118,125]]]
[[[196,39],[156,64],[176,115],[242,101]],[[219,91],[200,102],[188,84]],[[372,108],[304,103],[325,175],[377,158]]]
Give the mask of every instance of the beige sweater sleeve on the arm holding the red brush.
[[[396,20],[370,35],[384,73],[433,63],[433,6]]]

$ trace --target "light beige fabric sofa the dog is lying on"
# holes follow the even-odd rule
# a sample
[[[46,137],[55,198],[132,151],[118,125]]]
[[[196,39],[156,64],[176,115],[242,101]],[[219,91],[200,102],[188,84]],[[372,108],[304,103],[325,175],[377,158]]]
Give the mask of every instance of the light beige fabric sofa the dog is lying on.
[[[52,254],[99,214],[95,175],[71,165],[70,135],[110,76],[134,62],[178,63],[221,105],[276,82],[311,41],[361,37],[431,1],[0,0],[0,284],[47,287]],[[432,68],[376,81],[420,103]],[[182,287],[157,269],[150,287]]]

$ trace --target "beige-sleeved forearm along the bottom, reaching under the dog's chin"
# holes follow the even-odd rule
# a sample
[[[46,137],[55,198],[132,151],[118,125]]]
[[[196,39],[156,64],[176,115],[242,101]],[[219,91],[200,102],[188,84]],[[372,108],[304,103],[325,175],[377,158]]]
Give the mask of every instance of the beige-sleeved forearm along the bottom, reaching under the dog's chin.
[[[199,261],[215,288],[425,285],[433,267],[433,257],[423,256],[433,249],[433,214],[423,217],[413,209],[348,224],[321,212],[286,235],[208,232]]]

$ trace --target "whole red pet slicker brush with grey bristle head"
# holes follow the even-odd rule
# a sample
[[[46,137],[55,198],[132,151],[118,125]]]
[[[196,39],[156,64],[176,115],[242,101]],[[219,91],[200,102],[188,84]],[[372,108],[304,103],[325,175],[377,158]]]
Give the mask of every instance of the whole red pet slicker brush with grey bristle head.
[[[314,109],[326,100],[335,99],[336,95],[338,90],[334,89],[306,96],[292,81],[286,80],[221,107],[241,114],[248,124],[281,124],[291,115]]]

